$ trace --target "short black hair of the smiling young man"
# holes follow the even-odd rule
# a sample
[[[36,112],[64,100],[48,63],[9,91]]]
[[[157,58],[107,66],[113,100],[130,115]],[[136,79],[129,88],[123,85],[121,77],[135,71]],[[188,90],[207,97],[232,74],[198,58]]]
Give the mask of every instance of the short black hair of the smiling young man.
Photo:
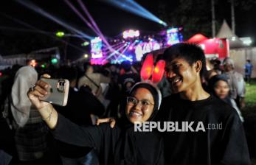
[[[190,66],[200,60],[202,63],[200,71],[201,78],[204,77],[204,74],[207,71],[204,51],[200,46],[193,43],[177,43],[170,46],[165,50],[163,57],[166,62],[170,62],[176,58],[182,58],[186,60]]]

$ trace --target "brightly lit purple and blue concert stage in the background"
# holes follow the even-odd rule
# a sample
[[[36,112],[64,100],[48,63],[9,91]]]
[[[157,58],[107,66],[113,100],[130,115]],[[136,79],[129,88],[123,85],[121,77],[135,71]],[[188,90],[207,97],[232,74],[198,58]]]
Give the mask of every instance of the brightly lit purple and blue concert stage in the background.
[[[122,33],[122,38],[112,38],[110,43],[114,51],[102,43],[102,40],[91,40],[91,63],[122,63],[128,60],[131,63],[140,61],[148,52],[153,52],[166,46],[182,41],[181,28],[169,28],[165,32],[142,35],[139,30],[128,29]]]

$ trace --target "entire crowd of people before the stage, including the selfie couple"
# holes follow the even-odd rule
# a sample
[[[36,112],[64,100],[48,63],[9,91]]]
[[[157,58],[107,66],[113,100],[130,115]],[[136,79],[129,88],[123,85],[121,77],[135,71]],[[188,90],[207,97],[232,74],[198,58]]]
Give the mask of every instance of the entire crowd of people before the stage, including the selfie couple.
[[[141,63],[100,67],[83,63],[83,67],[49,70],[16,67],[15,76],[4,82],[10,94],[1,92],[1,107],[7,114],[1,124],[7,121],[12,128],[13,137],[8,140],[13,138],[15,150],[5,150],[11,146],[6,143],[0,148],[0,161],[250,164],[241,114],[246,83],[235,71],[234,61],[226,58],[221,67],[220,60],[211,60],[207,71],[204,52],[189,43],[167,48],[155,60],[161,59],[165,60],[165,75],[158,84],[141,80]],[[249,82],[252,66],[245,67]],[[49,76],[69,80],[66,106],[41,101],[49,84],[40,77]],[[136,132],[134,124],[138,122],[202,122],[206,126],[221,124],[221,128]]]

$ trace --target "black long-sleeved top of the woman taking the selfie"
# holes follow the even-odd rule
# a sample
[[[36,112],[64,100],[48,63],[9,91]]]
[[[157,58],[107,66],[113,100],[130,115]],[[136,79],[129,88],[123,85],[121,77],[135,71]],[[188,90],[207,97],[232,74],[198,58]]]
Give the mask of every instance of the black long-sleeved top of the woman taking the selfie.
[[[134,132],[134,127],[111,128],[109,124],[79,127],[58,114],[58,124],[52,133],[60,141],[94,147],[100,164],[164,164],[162,138],[156,132],[139,133]]]

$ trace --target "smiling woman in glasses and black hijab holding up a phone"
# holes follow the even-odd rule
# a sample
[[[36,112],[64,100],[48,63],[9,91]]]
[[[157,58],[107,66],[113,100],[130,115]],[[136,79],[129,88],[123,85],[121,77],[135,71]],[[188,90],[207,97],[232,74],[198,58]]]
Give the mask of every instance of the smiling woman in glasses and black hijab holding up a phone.
[[[162,95],[156,86],[148,82],[134,85],[127,98],[126,122],[121,126],[117,123],[114,128],[109,124],[79,127],[70,122],[52,105],[38,99],[46,95],[46,88],[46,82],[39,80],[28,96],[56,139],[77,146],[94,147],[100,164],[164,164],[161,136],[155,131],[134,131],[135,122],[152,121],[159,110]]]

